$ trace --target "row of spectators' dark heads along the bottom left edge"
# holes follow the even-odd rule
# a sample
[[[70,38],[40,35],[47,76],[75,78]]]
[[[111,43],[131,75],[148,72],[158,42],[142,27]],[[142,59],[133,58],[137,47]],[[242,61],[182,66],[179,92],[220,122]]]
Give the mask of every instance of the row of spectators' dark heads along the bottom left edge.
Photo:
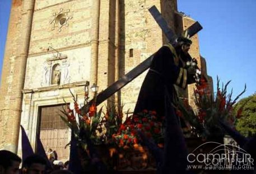
[[[22,161],[17,154],[2,150],[0,151],[0,174],[72,174],[71,171],[68,171],[68,161],[62,165],[53,164],[49,168],[46,160],[38,154],[33,154]]]

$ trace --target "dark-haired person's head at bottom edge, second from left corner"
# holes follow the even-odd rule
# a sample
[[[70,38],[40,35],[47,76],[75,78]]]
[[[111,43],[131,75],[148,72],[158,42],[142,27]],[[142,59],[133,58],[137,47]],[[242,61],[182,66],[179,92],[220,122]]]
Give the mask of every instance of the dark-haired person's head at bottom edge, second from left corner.
[[[23,163],[22,171],[26,174],[41,174],[45,170],[46,160],[37,154],[27,157]]]

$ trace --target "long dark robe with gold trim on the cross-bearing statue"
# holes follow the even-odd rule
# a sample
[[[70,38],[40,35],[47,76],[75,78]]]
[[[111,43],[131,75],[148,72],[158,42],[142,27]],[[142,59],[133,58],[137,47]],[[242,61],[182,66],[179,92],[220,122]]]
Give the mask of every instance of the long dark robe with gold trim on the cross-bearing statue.
[[[170,44],[162,46],[155,53],[142,83],[134,114],[148,110],[156,111],[158,116],[164,116],[165,86],[173,100],[174,84],[185,88],[187,84],[194,82],[184,68],[185,62],[191,60],[190,55],[181,54],[180,58],[178,56]]]

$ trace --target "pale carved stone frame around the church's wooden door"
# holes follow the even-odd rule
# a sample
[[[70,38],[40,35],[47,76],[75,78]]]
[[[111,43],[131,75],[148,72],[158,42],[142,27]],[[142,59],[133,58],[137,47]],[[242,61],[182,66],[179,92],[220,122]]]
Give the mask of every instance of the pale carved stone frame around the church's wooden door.
[[[30,140],[31,147],[36,147],[36,135],[39,128],[40,110],[41,106],[51,106],[64,104],[64,100],[70,104],[71,109],[73,108],[73,97],[69,92],[69,88],[72,93],[78,98],[78,103],[83,101],[84,89],[86,81],[75,82],[67,84],[65,86],[51,86],[36,88],[33,90],[23,90],[22,100],[22,116],[21,125],[27,133],[27,137]],[[71,139],[71,130],[68,132],[68,138]],[[19,136],[18,154],[21,153],[21,134]]]

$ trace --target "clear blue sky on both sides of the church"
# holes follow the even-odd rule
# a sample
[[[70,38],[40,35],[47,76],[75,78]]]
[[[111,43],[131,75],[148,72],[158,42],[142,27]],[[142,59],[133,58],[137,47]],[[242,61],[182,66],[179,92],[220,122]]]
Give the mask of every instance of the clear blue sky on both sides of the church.
[[[231,80],[233,96],[256,91],[256,1],[255,0],[177,0],[178,11],[201,23],[199,50],[206,58],[207,72],[224,84]],[[11,0],[0,0],[0,70],[6,41]]]

